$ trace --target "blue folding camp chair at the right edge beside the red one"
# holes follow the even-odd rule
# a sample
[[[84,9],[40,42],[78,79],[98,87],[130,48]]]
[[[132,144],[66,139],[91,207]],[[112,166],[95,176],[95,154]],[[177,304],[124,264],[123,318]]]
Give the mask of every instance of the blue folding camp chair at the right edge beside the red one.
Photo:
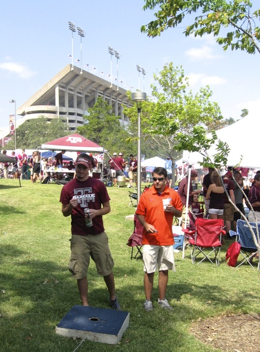
[[[252,226],[253,232],[256,234],[256,224],[254,222],[249,222],[249,224]],[[257,223],[257,226],[259,231],[258,233],[260,233],[260,223]],[[240,265],[244,263],[248,263],[254,269],[251,261],[257,251],[257,248],[254,244],[251,231],[246,222],[244,220],[237,220],[236,232],[230,230],[229,234],[230,236],[236,236],[236,242],[241,245],[239,254],[242,255],[242,259],[237,263],[236,268],[240,267]],[[260,261],[258,258],[257,270],[259,270],[259,268]]]

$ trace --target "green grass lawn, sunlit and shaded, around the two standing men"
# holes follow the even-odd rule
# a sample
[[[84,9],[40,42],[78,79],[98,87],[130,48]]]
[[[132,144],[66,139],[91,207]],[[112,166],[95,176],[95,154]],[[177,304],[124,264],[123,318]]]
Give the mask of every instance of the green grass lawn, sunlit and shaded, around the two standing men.
[[[56,324],[80,304],[76,281],[67,264],[70,255],[70,217],[61,214],[62,186],[0,180],[0,351],[73,352],[80,340],[55,333]],[[226,265],[226,241],[220,267],[209,262],[192,265],[176,254],[176,273],[169,273],[167,299],[174,307],[156,306],[157,276],[153,291],[154,309],[143,309],[143,267],[131,260],[126,245],[133,222],[125,216],[127,188],[108,188],[110,214],[105,229],[115,260],[116,291],[122,310],[130,312],[130,325],[118,345],[84,341],[78,351],[217,351],[189,333],[194,320],[230,313],[259,313],[259,272],[248,266]],[[256,266],[255,266],[256,268]],[[109,295],[94,263],[89,270],[89,296],[93,307],[108,308]],[[228,329],[228,326],[227,326]]]

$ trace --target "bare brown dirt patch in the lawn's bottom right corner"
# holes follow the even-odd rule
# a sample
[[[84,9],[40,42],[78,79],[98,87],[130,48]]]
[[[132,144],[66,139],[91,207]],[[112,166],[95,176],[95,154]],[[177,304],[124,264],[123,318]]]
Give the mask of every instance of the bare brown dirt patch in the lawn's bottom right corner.
[[[260,314],[230,314],[197,320],[190,333],[222,351],[260,352]]]

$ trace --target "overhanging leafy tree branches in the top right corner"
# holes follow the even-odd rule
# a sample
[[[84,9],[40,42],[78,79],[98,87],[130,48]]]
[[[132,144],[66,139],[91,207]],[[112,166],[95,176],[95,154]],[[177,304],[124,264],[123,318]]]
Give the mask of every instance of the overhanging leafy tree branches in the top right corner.
[[[159,36],[167,28],[178,27],[186,16],[199,13],[192,20],[194,22],[186,27],[186,36],[212,33],[224,50],[231,47],[232,50],[241,49],[249,54],[260,53],[260,28],[256,25],[260,9],[252,11],[249,0],[146,0],[143,10],[154,10],[157,6],[156,19],[141,27],[141,31],[148,36]],[[222,30],[228,28],[230,32],[221,36]]]

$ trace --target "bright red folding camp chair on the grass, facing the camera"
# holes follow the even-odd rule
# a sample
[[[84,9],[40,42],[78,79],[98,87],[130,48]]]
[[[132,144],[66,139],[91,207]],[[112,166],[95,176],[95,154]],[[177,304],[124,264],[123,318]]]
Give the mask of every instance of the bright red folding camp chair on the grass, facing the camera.
[[[219,266],[221,236],[226,233],[223,230],[224,222],[222,219],[201,219],[195,221],[195,230],[183,230],[188,236],[191,245],[192,263],[199,254],[203,254],[203,258],[198,262],[200,264],[208,259],[213,265]]]

